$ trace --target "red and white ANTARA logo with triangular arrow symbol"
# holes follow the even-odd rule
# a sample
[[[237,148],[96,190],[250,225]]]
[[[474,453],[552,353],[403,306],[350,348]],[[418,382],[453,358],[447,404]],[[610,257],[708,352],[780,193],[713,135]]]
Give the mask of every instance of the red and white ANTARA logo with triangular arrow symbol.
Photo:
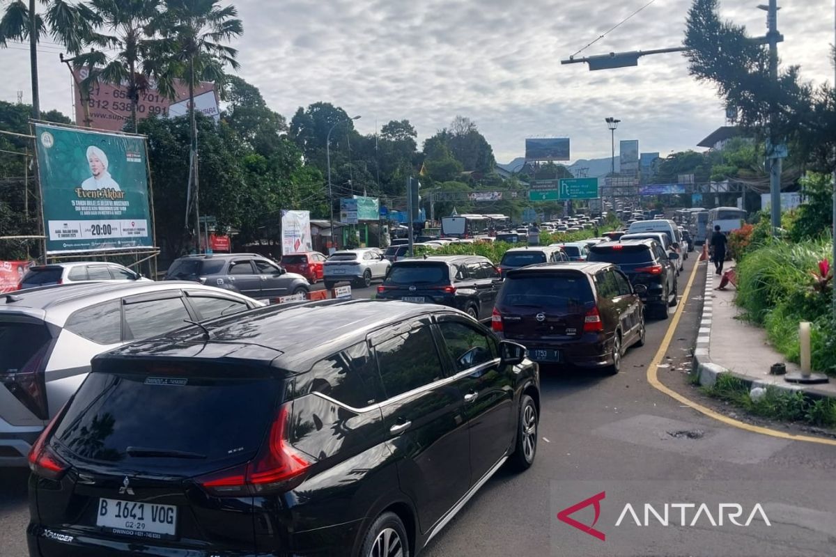
[[[606,492],[602,491],[599,494],[593,495],[589,499],[584,499],[580,503],[573,504],[558,513],[558,520],[579,529],[581,532],[589,534],[594,538],[606,541],[607,537],[604,532],[595,529],[595,524],[601,517],[601,501],[606,498]],[[583,524],[578,520],[571,518],[572,514],[577,513],[580,509],[586,509],[592,505],[595,516],[592,524]],[[619,519],[615,521],[615,526],[619,527],[622,524],[629,525],[630,523],[636,526],[651,526],[659,524],[660,526],[681,526],[681,527],[698,527],[706,528],[709,524],[713,527],[720,527],[733,524],[735,526],[747,527],[752,524],[757,517],[763,524],[772,526],[772,523],[767,517],[766,511],[760,503],[755,504],[752,510],[746,514],[742,504],[737,503],[721,503],[716,507],[716,512],[712,513],[712,508],[705,503],[665,503],[661,505],[653,505],[645,503],[644,505],[637,505],[638,509],[643,510],[643,513],[636,512],[633,504],[625,504],[624,509],[619,514]],[[696,510],[695,510],[696,509]],[[678,511],[678,512],[677,512]],[[745,522],[738,522],[737,519],[742,519],[743,516],[748,518]],[[677,521],[677,518],[679,519]],[[642,520],[644,519],[644,520]]]

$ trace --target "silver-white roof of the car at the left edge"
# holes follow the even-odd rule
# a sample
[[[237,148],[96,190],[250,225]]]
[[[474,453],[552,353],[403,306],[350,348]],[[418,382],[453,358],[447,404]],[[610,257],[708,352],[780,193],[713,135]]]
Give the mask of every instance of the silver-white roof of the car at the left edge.
[[[247,296],[223,291],[214,286],[204,286],[193,281],[101,281],[74,282],[65,285],[40,286],[0,297],[0,316],[4,311],[23,312],[49,316],[48,321],[63,326],[70,313],[82,307],[94,306],[124,296],[169,290],[200,290],[208,293],[227,294],[241,299]]]

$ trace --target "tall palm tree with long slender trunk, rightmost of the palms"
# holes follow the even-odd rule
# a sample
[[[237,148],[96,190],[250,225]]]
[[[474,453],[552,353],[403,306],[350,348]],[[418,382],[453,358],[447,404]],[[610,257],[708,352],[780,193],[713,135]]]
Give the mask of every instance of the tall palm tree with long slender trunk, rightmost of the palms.
[[[198,205],[197,124],[195,119],[195,85],[210,81],[222,89],[224,68],[237,69],[238,51],[224,42],[240,37],[243,24],[237,18],[235,6],[222,8],[220,0],[164,0],[166,11],[151,31],[161,37],[157,48],[166,55],[158,57],[155,68],[157,89],[174,98],[173,78],[186,80],[189,88],[189,118],[191,119],[191,203],[195,208],[197,248],[200,249],[200,210]],[[191,207],[186,208],[186,214]]]

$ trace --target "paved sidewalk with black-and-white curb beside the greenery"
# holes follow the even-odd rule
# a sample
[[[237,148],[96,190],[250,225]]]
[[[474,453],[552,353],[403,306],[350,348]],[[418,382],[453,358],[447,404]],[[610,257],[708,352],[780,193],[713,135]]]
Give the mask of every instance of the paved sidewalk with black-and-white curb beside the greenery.
[[[736,319],[742,311],[734,303],[735,287],[729,285],[726,290],[714,290],[715,285],[720,283],[720,276],[715,274],[710,262],[700,265],[706,266],[706,291],[694,351],[694,369],[699,373],[702,385],[713,384],[717,373],[729,372],[751,383],[750,388],[774,385],[786,390],[808,392],[813,397],[836,398],[836,382],[833,380],[818,385],[798,385],[784,381],[782,375],[770,375],[769,368],[774,363],[784,363],[788,373],[800,372],[801,368],[787,362],[767,342],[766,331]]]

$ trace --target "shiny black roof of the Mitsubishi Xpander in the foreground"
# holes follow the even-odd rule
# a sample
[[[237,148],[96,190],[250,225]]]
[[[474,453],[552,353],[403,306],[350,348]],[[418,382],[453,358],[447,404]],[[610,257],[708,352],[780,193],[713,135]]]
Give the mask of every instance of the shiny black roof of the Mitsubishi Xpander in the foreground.
[[[370,332],[440,311],[461,313],[433,304],[394,300],[329,300],[266,306],[239,313],[234,318],[227,316],[203,322],[210,334],[208,340],[200,329],[187,327],[166,337],[117,348],[99,359],[233,357],[250,360],[255,365],[305,372],[322,357],[361,342]]]

